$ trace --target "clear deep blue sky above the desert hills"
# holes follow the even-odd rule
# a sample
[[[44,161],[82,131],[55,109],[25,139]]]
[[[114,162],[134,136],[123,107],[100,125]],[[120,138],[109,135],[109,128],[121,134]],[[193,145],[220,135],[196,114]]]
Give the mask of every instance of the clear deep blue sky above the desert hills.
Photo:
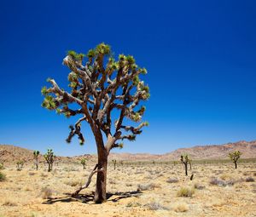
[[[150,126],[122,151],[256,139],[255,1],[1,1],[0,143],[59,155],[74,119],[41,107],[47,77],[67,87],[67,50],[109,43],[148,69]],[[117,150],[116,150],[117,151]]]

